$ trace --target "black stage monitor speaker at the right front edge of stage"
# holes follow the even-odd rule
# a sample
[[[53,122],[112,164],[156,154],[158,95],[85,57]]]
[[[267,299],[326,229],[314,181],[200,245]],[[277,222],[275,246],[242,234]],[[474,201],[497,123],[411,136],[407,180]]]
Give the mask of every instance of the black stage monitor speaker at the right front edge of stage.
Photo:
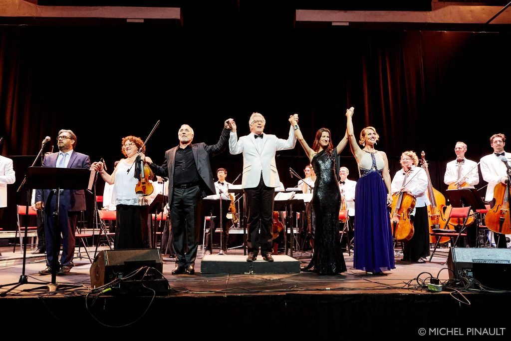
[[[451,247],[447,266],[449,278],[464,276],[492,289],[511,290],[511,249]]]

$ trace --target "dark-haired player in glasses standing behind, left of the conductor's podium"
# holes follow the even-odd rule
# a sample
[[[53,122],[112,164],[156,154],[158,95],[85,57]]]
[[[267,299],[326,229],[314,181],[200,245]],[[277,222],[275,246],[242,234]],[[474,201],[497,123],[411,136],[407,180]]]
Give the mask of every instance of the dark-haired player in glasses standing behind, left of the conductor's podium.
[[[217,169],[217,178],[218,181],[215,182],[215,191],[216,195],[222,199],[230,200],[229,197],[229,186],[232,184],[225,181],[225,177],[227,176],[227,170],[225,168]],[[232,225],[230,220],[227,218],[227,213],[229,213],[229,205],[222,201],[222,230],[223,230],[223,239],[222,239],[222,251],[224,253],[227,252],[227,242],[229,240],[229,225]],[[215,235],[215,230],[217,226],[220,225],[220,217],[217,215],[215,218],[210,220],[210,232],[206,235],[206,254],[212,254],[212,240],[210,237]]]

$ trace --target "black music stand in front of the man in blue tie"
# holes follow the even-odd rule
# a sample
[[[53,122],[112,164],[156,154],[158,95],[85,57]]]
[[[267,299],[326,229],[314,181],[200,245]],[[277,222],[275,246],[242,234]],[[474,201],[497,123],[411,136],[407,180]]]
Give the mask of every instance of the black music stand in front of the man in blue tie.
[[[57,193],[56,211],[53,212],[55,219],[55,231],[53,234],[53,262],[52,262],[52,282],[40,287],[25,289],[23,291],[47,289],[48,291],[57,291],[63,287],[81,287],[76,284],[56,283],[57,264],[60,251],[60,243],[57,243],[57,234],[60,233],[60,190],[81,190],[89,187],[94,181],[95,171],[84,168],[53,168],[53,167],[29,167],[27,169],[27,184],[29,188],[37,189],[55,189]],[[73,230],[74,231],[74,230]],[[58,245],[57,245],[58,244]],[[47,250],[50,251],[50,250]]]

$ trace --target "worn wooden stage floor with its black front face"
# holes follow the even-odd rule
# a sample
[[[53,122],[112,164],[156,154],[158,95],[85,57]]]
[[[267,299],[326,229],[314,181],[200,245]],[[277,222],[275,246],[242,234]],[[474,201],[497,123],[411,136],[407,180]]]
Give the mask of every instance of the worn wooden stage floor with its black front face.
[[[509,292],[469,292],[459,284],[458,288],[444,288],[442,292],[424,288],[430,277],[441,282],[448,280],[448,270],[443,265],[447,250],[442,249],[431,263],[423,264],[402,262],[397,251],[396,269],[383,276],[351,269],[353,257],[345,253],[349,270],[342,275],[321,277],[307,272],[204,275],[200,274],[199,251],[194,276],[171,275],[174,262],[164,258],[163,275],[170,290],[157,295],[143,293],[140,287],[126,293],[91,291],[90,263],[86,258],[75,259],[71,274],[58,276],[57,281],[78,284],[79,288],[50,293],[13,290],[0,298],[0,321],[4,326],[27,326],[28,334],[55,325],[56,335],[64,327],[86,337],[96,330],[100,335],[137,337],[143,333],[145,337],[186,338],[190,334],[213,339],[392,337],[391,334],[419,337],[422,333],[434,337],[508,337]],[[22,271],[21,254],[13,254],[8,248],[1,251],[0,284],[15,283]],[[243,251],[231,250],[229,254],[242,255]],[[294,257],[307,263],[310,253],[298,252]],[[26,265],[28,280],[42,284],[50,281],[50,276],[38,275],[44,267],[44,257],[30,255]],[[19,289],[34,286],[27,284]]]

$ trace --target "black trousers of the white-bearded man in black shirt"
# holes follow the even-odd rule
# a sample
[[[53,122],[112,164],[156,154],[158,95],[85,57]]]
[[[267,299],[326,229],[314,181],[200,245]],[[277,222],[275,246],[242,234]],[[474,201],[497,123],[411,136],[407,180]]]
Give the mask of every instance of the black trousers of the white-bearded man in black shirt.
[[[200,225],[197,224],[200,214],[200,187],[174,188],[172,195],[170,221],[174,242],[172,247],[176,254],[176,265],[188,266],[195,264],[199,246]]]

